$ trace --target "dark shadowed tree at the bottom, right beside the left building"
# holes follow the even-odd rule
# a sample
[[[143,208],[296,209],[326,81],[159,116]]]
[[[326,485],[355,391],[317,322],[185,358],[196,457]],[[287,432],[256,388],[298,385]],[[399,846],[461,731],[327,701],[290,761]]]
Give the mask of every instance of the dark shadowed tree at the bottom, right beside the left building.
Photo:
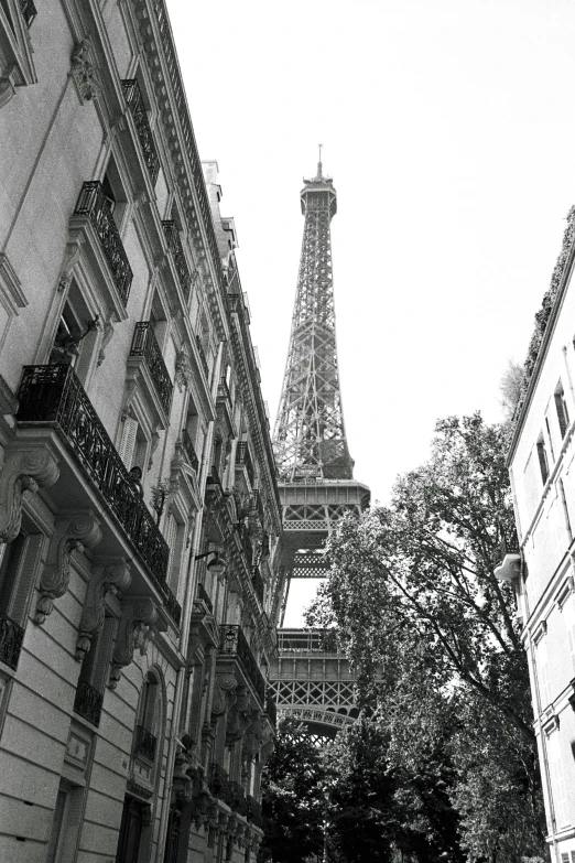
[[[259,861],[303,863],[324,844],[321,751],[292,718],[280,719],[275,749],[262,773],[263,842]]]

